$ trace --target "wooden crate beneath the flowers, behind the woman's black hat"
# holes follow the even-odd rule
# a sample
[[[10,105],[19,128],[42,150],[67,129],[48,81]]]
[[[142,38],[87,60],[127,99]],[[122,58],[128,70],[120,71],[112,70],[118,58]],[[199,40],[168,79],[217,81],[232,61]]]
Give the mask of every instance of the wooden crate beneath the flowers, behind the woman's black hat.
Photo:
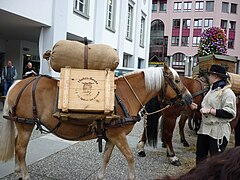
[[[219,64],[228,67],[228,72],[236,73],[237,58],[234,56],[225,56],[213,54],[209,56],[199,57],[199,70],[209,71],[212,64]]]

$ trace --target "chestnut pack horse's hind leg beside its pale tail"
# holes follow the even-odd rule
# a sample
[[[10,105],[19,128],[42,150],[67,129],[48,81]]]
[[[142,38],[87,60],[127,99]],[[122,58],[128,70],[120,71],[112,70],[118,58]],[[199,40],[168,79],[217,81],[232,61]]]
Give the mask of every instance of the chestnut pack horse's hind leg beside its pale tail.
[[[15,144],[15,163],[17,163],[15,165],[15,170],[18,170],[18,167],[20,166],[20,169],[22,171],[22,179],[29,180],[30,175],[28,173],[26,164],[26,151],[34,125],[16,123],[16,127],[18,130],[18,137]]]

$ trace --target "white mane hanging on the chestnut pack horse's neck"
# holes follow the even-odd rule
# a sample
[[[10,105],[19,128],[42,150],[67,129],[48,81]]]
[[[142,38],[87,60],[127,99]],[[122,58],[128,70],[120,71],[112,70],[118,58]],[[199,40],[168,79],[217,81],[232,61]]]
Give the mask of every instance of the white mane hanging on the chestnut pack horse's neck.
[[[160,91],[163,82],[163,68],[150,67],[144,69],[145,86],[148,91],[156,90]]]

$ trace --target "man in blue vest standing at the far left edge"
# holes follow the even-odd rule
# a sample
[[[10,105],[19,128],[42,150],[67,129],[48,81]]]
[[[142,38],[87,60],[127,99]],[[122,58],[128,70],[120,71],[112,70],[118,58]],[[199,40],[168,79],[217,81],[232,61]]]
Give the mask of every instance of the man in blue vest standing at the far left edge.
[[[14,80],[17,78],[17,70],[12,65],[12,61],[8,60],[7,66],[4,66],[2,69],[2,80],[3,80],[3,95],[6,96],[8,89],[13,84]]]

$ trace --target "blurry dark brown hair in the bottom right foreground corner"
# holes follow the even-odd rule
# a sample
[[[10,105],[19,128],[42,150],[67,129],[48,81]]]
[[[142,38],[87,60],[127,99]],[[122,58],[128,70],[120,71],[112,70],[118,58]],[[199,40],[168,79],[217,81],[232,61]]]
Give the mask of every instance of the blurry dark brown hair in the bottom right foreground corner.
[[[178,177],[160,177],[158,180],[238,180],[240,176],[240,147],[230,148],[200,162],[186,174]]]

